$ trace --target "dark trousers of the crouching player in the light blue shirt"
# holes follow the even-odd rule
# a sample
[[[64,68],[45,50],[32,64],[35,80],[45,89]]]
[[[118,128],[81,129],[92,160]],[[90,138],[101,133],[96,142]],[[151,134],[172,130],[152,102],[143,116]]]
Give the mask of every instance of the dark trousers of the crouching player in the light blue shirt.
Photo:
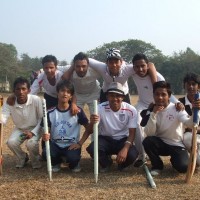
[[[46,157],[46,148],[43,149],[43,156]],[[69,168],[73,169],[76,167],[81,159],[81,149],[69,150],[67,148],[60,148],[56,143],[50,142],[50,154],[51,154],[51,163],[52,165],[57,165],[62,162],[61,157],[65,157],[69,163]]]

